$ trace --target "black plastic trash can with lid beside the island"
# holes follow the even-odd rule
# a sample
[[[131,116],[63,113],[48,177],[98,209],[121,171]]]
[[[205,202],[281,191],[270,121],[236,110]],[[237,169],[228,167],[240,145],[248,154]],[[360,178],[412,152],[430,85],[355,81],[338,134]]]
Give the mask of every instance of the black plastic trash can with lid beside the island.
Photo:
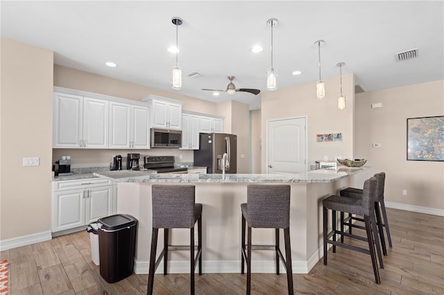
[[[137,220],[117,214],[97,220],[99,226],[100,275],[115,283],[133,273]]]

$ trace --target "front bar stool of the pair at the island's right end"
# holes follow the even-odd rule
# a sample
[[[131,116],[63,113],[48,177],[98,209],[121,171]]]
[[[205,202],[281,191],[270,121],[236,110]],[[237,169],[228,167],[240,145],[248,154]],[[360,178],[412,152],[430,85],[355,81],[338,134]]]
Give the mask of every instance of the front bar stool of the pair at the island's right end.
[[[323,246],[324,246],[324,265],[327,265],[327,244],[333,245],[333,253],[336,253],[336,246],[344,247],[346,249],[358,251],[361,253],[370,254],[373,272],[375,274],[375,281],[380,284],[379,271],[377,268],[377,260],[375,253],[376,248],[379,249],[379,239],[377,238],[377,231],[375,229],[375,197],[376,197],[376,178],[370,177],[364,182],[364,190],[361,199],[353,199],[350,197],[343,197],[332,195],[323,200]],[[332,210],[332,231],[327,232],[327,211]],[[336,231],[336,211],[341,213],[351,213],[364,216],[364,224],[367,232],[367,238],[345,233],[343,229]],[[342,215],[342,214],[341,214]],[[343,215],[342,215],[343,220]],[[373,235],[372,235],[373,231]],[[336,234],[341,235],[341,242],[336,242]],[[345,244],[342,242],[342,236],[348,236],[349,238],[355,238],[357,240],[363,240],[368,242],[368,250],[353,246],[351,244]],[[332,240],[330,240],[332,238]],[[380,258],[380,256],[379,256]],[[380,260],[382,262],[382,260]]]

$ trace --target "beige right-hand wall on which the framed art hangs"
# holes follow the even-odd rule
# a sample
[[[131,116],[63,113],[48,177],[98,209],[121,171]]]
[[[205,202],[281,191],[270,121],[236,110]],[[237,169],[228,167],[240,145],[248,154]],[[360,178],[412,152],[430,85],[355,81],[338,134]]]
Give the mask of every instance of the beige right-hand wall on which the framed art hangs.
[[[370,107],[376,102],[382,108]],[[386,201],[444,209],[444,163],[407,161],[406,152],[407,118],[443,114],[443,80],[357,94],[355,154],[373,172],[386,172]]]

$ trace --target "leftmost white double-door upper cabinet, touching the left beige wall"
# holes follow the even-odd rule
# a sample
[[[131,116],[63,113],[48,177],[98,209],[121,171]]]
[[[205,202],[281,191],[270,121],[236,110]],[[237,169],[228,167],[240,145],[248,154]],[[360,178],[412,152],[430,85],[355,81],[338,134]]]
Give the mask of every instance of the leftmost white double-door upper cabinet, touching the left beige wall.
[[[108,100],[55,92],[53,147],[107,148]]]

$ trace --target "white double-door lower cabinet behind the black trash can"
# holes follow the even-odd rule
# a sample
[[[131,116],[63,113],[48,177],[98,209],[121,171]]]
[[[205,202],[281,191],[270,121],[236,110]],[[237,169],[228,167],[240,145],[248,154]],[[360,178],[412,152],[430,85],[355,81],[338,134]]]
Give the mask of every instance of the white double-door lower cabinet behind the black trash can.
[[[54,181],[52,232],[74,229],[116,211],[115,186],[107,179]]]

